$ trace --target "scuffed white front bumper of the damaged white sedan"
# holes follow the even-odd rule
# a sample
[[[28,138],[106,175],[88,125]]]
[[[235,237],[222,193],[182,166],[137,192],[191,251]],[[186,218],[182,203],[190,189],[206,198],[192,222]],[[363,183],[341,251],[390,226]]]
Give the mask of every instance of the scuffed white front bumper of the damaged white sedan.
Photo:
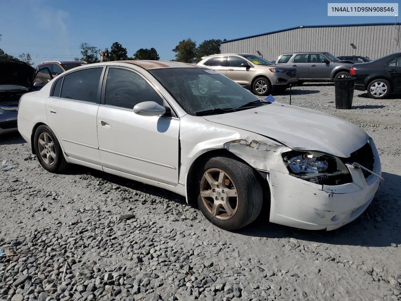
[[[381,175],[379,154],[370,139],[375,158],[373,172]],[[270,170],[270,222],[308,230],[334,230],[355,220],[369,206],[380,179],[365,178],[362,169],[348,166],[352,183],[319,185],[290,174]]]

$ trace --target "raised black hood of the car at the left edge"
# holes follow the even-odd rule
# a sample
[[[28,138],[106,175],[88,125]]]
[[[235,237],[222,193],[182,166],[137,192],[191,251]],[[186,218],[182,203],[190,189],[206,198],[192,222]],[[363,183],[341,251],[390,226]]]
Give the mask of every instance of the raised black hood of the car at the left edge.
[[[0,59],[0,85],[16,85],[30,88],[35,68],[23,61]]]

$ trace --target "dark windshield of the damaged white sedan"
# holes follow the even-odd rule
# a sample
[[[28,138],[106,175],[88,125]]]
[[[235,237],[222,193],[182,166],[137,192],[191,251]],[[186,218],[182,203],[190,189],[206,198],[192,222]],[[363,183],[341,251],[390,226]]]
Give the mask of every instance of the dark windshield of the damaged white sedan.
[[[210,69],[167,68],[149,72],[191,115],[206,110],[239,108],[260,101],[241,85]]]

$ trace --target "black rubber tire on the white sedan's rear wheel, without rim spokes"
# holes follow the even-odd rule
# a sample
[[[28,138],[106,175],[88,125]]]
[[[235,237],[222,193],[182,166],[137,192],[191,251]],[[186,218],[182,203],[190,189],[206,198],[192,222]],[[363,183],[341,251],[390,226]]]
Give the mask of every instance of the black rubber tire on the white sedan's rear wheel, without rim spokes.
[[[54,146],[53,153],[55,154],[55,158],[53,159],[52,162],[49,161],[50,164],[45,162],[45,160],[41,157],[41,150],[39,148],[42,148],[42,150],[44,150],[44,149],[43,149],[42,144],[41,144],[42,146],[39,145],[40,144],[39,137],[42,134],[48,135],[51,138],[51,141],[54,143],[53,144],[53,146]],[[43,139],[42,139],[42,141],[43,141]],[[42,165],[42,167],[44,169],[46,169],[47,171],[50,171],[51,173],[59,173],[67,167],[68,163],[67,163],[67,161],[65,161],[63,150],[61,149],[59,141],[57,140],[56,135],[52,132],[52,130],[48,126],[41,125],[41,126],[38,126],[38,128],[36,128],[34,138],[33,138],[33,143],[34,143],[36,157],[38,158],[39,163]],[[50,143],[48,143],[47,145],[50,145]]]

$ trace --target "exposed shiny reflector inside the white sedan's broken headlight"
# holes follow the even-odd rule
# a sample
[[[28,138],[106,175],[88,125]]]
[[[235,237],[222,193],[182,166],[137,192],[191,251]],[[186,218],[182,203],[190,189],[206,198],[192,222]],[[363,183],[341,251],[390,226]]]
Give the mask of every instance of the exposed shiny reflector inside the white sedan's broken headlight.
[[[322,157],[315,157],[311,153],[305,153],[292,157],[287,161],[293,173],[320,173],[328,167],[327,160]]]

